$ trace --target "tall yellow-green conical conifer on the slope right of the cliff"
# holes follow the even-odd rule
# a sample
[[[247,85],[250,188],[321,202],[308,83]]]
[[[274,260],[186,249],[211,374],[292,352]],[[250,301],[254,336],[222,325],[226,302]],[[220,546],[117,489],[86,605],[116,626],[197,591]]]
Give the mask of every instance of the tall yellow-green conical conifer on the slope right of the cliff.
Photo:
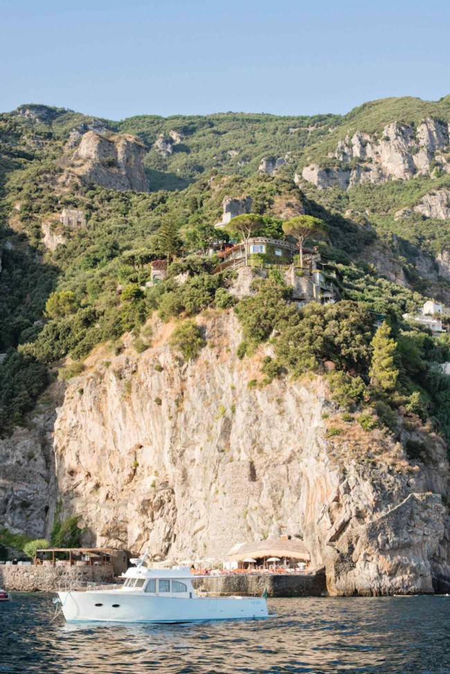
[[[390,327],[386,322],[377,330],[370,345],[373,349],[370,383],[377,393],[390,394],[395,390],[399,371],[394,361],[397,342],[390,336]]]

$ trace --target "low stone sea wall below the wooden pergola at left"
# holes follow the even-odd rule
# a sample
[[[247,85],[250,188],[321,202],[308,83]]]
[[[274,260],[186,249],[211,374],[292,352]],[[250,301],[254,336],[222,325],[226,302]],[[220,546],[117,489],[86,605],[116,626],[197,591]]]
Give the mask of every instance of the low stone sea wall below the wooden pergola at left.
[[[56,592],[64,586],[105,583],[113,575],[112,565],[45,567],[0,565],[0,588],[18,592]]]

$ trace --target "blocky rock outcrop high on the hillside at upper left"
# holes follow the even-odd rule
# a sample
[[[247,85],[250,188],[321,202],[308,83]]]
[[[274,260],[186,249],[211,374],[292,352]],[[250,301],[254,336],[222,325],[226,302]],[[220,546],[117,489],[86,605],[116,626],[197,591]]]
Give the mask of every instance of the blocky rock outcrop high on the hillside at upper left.
[[[111,190],[148,192],[143,160],[147,149],[134,136],[102,136],[96,131],[82,135],[71,170],[84,182]]]

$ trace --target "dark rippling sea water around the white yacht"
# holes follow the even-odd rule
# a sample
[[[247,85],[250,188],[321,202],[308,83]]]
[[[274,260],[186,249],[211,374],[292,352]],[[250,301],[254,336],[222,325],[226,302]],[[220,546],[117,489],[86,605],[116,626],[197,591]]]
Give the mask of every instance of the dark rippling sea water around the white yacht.
[[[273,599],[277,617],[68,625],[51,594],[0,604],[0,674],[450,674],[450,597]]]

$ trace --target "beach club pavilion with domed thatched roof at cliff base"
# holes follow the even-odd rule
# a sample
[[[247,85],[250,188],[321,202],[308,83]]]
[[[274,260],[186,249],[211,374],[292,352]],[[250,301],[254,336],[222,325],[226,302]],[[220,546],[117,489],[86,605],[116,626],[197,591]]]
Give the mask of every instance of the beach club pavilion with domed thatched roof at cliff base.
[[[238,543],[228,552],[228,568],[305,570],[311,556],[300,538],[267,538]]]

